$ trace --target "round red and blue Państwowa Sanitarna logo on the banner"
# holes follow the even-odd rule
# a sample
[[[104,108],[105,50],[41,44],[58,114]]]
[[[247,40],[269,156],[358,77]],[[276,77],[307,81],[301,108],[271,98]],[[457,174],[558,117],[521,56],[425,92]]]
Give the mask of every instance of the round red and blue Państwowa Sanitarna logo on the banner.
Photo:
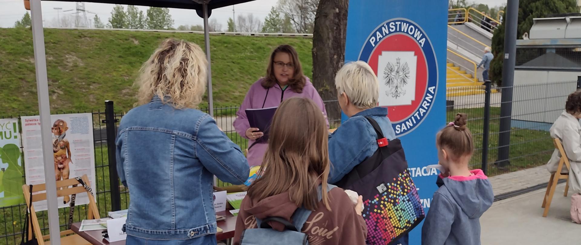
[[[410,133],[428,116],[436,97],[436,53],[425,31],[411,20],[385,21],[369,35],[359,59],[379,81],[379,106],[388,108],[396,136]]]

